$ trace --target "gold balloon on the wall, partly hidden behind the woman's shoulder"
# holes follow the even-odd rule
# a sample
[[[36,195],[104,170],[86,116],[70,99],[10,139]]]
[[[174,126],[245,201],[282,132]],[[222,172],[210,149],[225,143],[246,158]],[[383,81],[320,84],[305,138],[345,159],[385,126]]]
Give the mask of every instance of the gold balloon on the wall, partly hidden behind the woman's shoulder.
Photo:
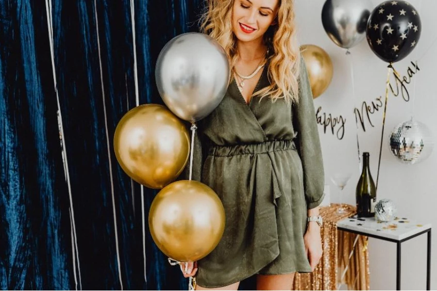
[[[301,51],[308,71],[313,98],[317,98],[325,92],[332,81],[334,69],[331,58],[326,51],[315,45],[304,45]]]

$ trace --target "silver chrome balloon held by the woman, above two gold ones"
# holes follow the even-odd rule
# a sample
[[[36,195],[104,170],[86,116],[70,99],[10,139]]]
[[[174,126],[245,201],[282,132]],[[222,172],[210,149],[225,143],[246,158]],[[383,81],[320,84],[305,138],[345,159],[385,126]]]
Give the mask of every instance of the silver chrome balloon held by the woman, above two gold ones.
[[[230,78],[229,61],[212,37],[184,33],[161,50],[155,77],[168,109],[195,122],[211,113],[223,99]]]

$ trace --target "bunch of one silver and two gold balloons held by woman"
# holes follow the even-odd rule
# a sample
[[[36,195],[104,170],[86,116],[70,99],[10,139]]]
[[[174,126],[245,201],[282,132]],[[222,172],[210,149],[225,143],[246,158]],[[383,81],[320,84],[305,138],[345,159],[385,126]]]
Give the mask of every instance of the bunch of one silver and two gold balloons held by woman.
[[[140,105],[126,113],[114,135],[117,161],[132,179],[162,190],[149,211],[151,236],[171,259],[202,259],[223,235],[225,213],[217,194],[191,180],[173,182],[193,155],[196,121],[223,99],[229,78],[224,50],[208,35],[184,33],[162,49],[155,70],[158,91],[168,108]],[[191,142],[183,121],[192,124]]]

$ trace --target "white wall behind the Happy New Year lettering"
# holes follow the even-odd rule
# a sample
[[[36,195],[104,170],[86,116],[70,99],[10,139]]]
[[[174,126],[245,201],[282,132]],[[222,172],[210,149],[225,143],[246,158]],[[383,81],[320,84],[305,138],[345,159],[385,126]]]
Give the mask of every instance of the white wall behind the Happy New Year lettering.
[[[371,102],[376,97],[384,97],[387,64],[377,58],[364,39],[352,48],[355,105],[352,97],[352,81],[349,57],[345,50],[337,47],[326,35],[321,23],[321,9],[324,0],[297,0],[296,14],[301,44],[314,44],[325,49],[334,63],[334,78],[327,91],[315,100],[316,109],[333,116],[340,114],[346,118],[345,135],[342,140],[328,132],[323,133],[319,126],[325,164],[326,183],[330,185],[331,202],[339,202],[339,192],[330,181],[334,172],[350,170],[353,178],[343,192],[343,201],[355,204],[355,187],[359,176],[356,147],[356,127],[353,108],[361,107],[363,101]],[[372,0],[374,6],[382,1]],[[403,61],[395,63],[401,75],[406,75],[410,61],[419,59],[420,71],[413,77],[416,80],[408,85],[410,101],[390,95],[384,144],[379,177],[377,200],[390,198],[398,207],[401,217],[417,220],[420,223],[432,223],[437,227],[437,148],[428,160],[405,165],[394,158],[387,146],[389,132],[400,122],[414,116],[425,123],[437,141],[437,1],[411,0],[419,11],[422,21],[420,41],[413,52]],[[429,50],[428,50],[429,49]],[[428,52],[424,55],[424,53]],[[422,57],[423,56],[423,57]],[[411,65],[410,65],[411,66]],[[416,94],[414,93],[416,91]],[[367,123],[366,132],[359,129],[361,152],[370,152],[370,167],[376,182],[379,143],[382,129],[382,111],[371,115],[375,125]],[[338,127],[337,127],[338,128]],[[435,146],[437,147],[437,145]],[[436,232],[436,230],[434,231]],[[370,289],[396,289],[396,244],[370,239]],[[426,236],[422,235],[403,243],[402,249],[402,289],[425,290],[426,284]],[[437,289],[437,239],[432,243],[431,290]]]

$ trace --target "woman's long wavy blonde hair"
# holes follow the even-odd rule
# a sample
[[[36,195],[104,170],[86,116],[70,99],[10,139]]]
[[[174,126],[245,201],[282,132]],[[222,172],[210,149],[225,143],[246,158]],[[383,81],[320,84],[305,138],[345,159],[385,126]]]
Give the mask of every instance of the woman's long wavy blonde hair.
[[[206,0],[206,11],[200,19],[201,32],[218,41],[225,50],[231,72],[238,59],[236,37],[232,31],[232,9],[235,0]],[[299,101],[300,50],[294,24],[294,0],[279,0],[277,24],[264,34],[264,43],[269,48],[270,85],[254,92],[254,96],[270,96],[273,102],[285,98],[287,103]],[[231,82],[233,74],[231,74]]]

